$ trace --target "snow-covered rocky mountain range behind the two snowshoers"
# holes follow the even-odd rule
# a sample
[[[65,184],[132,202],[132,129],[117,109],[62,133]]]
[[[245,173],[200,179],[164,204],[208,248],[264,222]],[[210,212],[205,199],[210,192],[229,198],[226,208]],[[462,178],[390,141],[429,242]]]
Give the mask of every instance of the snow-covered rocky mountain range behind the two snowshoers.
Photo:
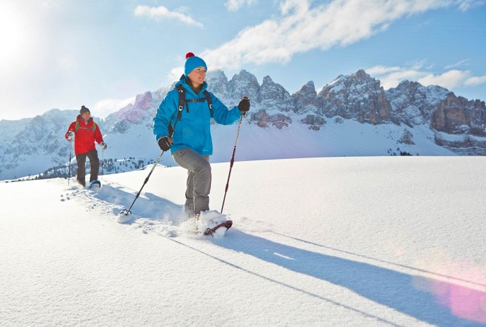
[[[246,70],[230,80],[222,71],[210,72],[207,83],[228,107],[237,105],[242,96],[251,99],[237,160],[400,153],[486,155],[485,102],[457,97],[441,86],[403,81],[385,91],[364,70],[336,77],[319,93],[308,82],[291,95],[271,77],[259,84]],[[104,159],[149,162],[157,158],[160,152],[152,135],[152,118],[172,87],[140,94],[133,104],[104,121],[93,112],[109,144]],[[0,180],[66,165],[72,151],[63,135],[76,116],[75,110],[52,109],[33,119],[0,121]],[[215,124],[212,133],[212,162],[229,161],[236,127]],[[164,155],[161,163],[175,165],[170,155]]]

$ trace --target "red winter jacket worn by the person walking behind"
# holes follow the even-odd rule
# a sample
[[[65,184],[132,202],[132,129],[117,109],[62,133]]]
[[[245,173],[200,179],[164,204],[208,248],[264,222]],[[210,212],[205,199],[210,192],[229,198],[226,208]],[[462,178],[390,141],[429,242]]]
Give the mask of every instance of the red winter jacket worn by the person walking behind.
[[[75,132],[75,153],[88,153],[95,149],[95,141],[98,144],[103,142],[103,137],[100,132],[100,127],[93,122],[93,118],[90,117],[88,123],[85,123],[80,115],[77,116],[76,121],[73,121],[68,128],[68,132],[72,130]],[[65,138],[68,139],[68,132],[65,134]],[[69,139],[68,139],[69,141]]]

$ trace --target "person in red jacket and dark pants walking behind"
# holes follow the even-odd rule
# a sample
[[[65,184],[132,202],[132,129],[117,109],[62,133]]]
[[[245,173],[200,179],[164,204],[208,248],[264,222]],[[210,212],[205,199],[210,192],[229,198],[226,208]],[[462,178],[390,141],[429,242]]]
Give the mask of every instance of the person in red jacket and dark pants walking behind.
[[[86,186],[86,157],[89,158],[91,165],[90,183],[98,179],[98,170],[100,169],[100,160],[95,148],[95,142],[100,144],[101,149],[107,149],[104,143],[100,128],[91,118],[91,112],[88,108],[82,106],[76,121],[73,121],[65,134],[65,138],[71,141],[75,137],[75,154],[77,160],[77,181],[79,184]]]

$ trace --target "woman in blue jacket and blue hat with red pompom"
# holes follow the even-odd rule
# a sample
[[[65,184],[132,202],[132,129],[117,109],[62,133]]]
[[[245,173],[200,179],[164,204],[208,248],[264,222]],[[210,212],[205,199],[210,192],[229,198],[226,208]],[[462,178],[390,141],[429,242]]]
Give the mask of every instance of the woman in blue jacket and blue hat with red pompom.
[[[250,109],[250,101],[246,98],[233,109],[228,109],[209,92],[212,102],[210,106],[205,96],[206,71],[207,66],[203,59],[188,52],[184,75],[175,84],[176,87],[184,88],[185,107],[179,114],[179,93],[177,89],[173,89],[167,93],[154,118],[154,134],[160,149],[163,151],[171,149],[174,161],[180,167],[187,169],[185,211],[190,218],[196,217],[196,219],[202,211],[209,210],[211,118],[217,123],[230,125]]]

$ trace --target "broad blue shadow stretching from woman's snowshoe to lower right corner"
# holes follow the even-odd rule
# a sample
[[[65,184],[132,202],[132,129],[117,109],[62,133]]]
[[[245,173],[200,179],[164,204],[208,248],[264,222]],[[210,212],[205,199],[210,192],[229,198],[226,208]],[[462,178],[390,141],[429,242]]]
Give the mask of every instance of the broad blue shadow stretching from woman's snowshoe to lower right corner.
[[[275,243],[233,230],[218,245],[346,287],[371,301],[439,326],[484,326],[486,293],[441,280]]]

